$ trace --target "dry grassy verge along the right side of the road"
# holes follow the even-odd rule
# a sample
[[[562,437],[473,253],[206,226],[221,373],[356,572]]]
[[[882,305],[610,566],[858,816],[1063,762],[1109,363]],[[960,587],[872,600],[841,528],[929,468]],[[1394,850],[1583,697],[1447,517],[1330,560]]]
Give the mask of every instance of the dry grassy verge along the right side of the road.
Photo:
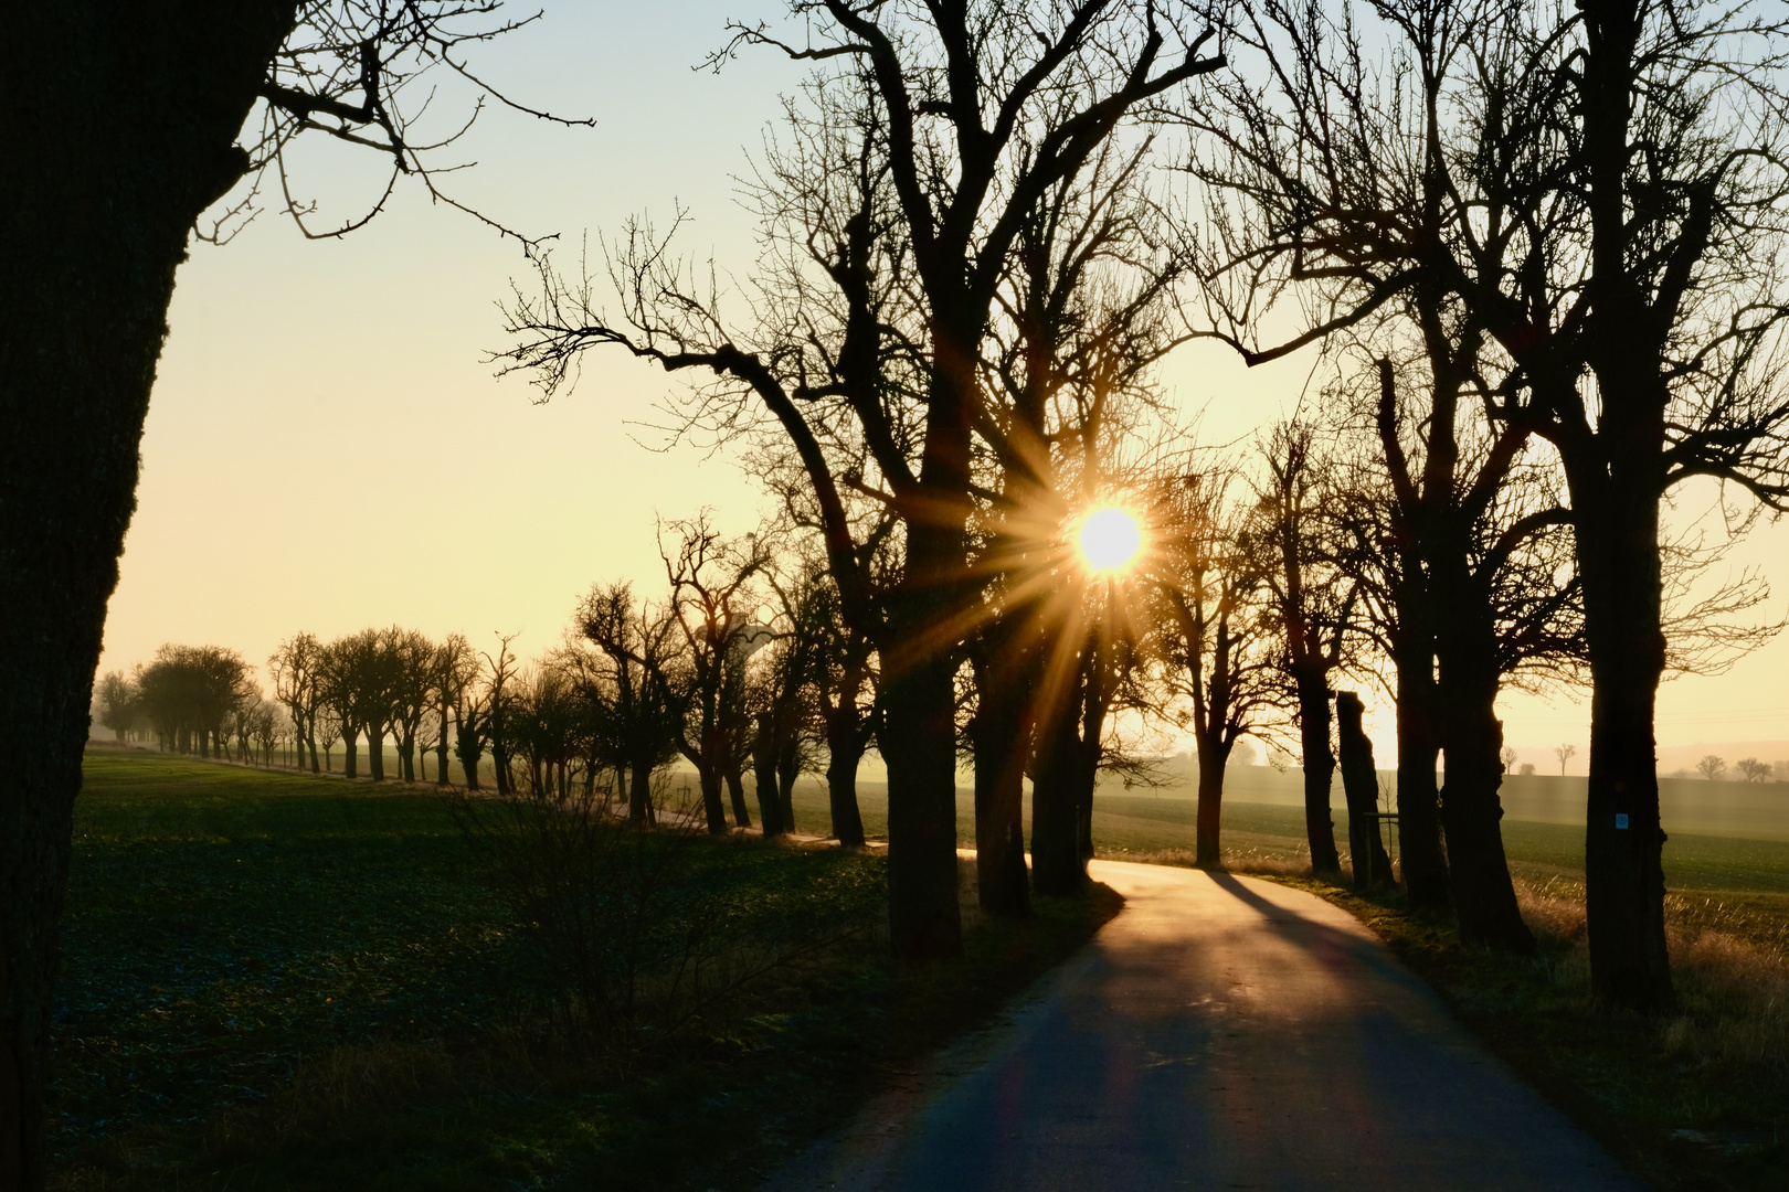
[[[1517,883],[1540,947],[1515,958],[1462,947],[1451,922],[1412,913],[1401,892],[1356,895],[1286,867],[1263,876],[1358,915],[1506,1063],[1653,1187],[1784,1187],[1789,895],[1671,895],[1680,1004],[1648,1020],[1590,1001],[1581,883]]]

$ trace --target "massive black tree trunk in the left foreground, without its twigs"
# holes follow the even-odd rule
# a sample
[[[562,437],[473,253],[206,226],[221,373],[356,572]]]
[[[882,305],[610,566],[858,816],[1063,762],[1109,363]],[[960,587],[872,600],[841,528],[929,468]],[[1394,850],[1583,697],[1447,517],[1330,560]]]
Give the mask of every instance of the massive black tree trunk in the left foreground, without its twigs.
[[[106,600],[191,220],[245,166],[233,139],[292,4],[9,13],[0,227],[0,1188],[47,1178],[57,920]],[[202,64],[202,66],[200,66]]]

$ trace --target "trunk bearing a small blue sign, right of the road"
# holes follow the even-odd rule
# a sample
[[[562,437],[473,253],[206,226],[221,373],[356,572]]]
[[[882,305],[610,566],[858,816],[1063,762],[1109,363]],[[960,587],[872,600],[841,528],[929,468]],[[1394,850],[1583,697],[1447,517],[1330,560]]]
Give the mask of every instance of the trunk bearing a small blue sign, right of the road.
[[[1590,990],[1612,1004],[1662,1013],[1673,1006],[1675,994],[1666,951],[1666,835],[1653,738],[1666,663],[1658,502],[1666,491],[1666,411],[1671,404],[1667,336],[1682,327],[1685,298],[1666,293],[1669,281],[1630,272],[1637,236],[1630,218],[1646,236],[1658,227],[1651,216],[1633,214],[1635,207],[1651,202],[1648,193],[1633,189],[1633,145],[1644,130],[1632,127],[1642,107],[1639,97],[1648,88],[1641,79],[1646,54],[1641,36],[1648,18],[1635,0],[1587,0],[1580,11],[1589,32],[1580,73],[1580,152],[1589,164],[1592,259],[1585,340],[1601,409],[1594,434],[1564,436],[1558,445],[1571,486],[1590,647],[1585,827]],[[1689,225],[1678,227],[1683,239],[1673,247],[1673,268],[1680,254],[1694,263],[1707,247],[1698,245],[1696,236],[1708,229],[1696,232],[1692,214]],[[1712,236],[1719,239],[1721,232]],[[1655,282],[1662,284],[1655,288]],[[1689,284],[1691,293],[1696,288]],[[1744,454],[1742,441],[1746,438],[1723,441],[1716,434],[1708,449]]]

